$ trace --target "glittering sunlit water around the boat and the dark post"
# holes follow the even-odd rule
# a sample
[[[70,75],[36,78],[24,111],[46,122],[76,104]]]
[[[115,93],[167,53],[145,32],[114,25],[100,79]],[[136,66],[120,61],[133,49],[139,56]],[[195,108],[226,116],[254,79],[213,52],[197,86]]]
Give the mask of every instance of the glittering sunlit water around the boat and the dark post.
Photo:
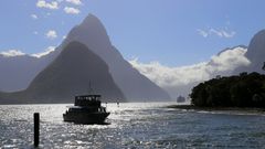
[[[63,123],[67,105],[2,105],[0,148],[33,148],[35,111],[41,114],[40,148],[265,148],[264,115],[166,105],[170,103],[108,104],[107,126]]]

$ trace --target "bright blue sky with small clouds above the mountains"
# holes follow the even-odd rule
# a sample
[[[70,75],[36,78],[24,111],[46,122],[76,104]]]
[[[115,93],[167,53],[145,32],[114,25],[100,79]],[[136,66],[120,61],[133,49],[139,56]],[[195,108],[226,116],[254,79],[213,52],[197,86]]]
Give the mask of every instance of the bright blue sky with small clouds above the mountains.
[[[125,58],[189,65],[247,45],[265,28],[264,6],[264,0],[1,0],[0,52],[43,52],[93,13]]]

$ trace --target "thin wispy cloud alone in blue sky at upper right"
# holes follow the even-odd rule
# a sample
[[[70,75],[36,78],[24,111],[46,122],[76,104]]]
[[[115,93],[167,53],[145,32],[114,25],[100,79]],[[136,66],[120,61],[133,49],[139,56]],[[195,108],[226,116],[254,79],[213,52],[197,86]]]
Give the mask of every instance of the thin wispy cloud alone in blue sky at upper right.
[[[200,35],[202,35],[203,38],[208,38],[210,35],[218,35],[220,38],[226,38],[226,39],[230,39],[230,38],[233,38],[236,32],[235,31],[227,31],[227,30],[216,30],[216,29],[209,29],[209,30],[201,30],[201,29],[198,29],[197,30],[198,33]]]

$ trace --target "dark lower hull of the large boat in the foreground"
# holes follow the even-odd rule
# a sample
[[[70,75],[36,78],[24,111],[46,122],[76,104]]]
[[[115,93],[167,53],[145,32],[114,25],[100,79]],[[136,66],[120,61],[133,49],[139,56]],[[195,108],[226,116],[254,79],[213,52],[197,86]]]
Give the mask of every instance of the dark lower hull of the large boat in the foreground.
[[[67,113],[63,114],[64,121],[74,124],[106,124],[105,119],[109,113]]]

